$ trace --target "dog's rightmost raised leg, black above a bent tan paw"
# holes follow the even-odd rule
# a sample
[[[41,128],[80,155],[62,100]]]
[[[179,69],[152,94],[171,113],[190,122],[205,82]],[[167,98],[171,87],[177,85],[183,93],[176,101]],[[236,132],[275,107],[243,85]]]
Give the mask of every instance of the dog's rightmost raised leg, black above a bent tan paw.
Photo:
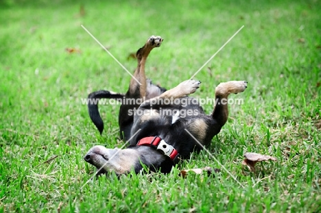
[[[246,81],[231,81],[221,83],[215,88],[215,108],[212,113],[212,118],[216,121],[212,129],[215,134],[228,119],[228,95],[243,92],[248,87],[247,84]]]

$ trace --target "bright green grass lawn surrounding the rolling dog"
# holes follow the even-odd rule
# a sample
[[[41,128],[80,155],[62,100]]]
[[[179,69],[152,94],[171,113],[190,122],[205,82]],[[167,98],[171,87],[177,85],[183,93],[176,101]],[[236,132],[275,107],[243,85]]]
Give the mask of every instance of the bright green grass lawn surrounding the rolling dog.
[[[80,5],[86,14],[80,16]],[[0,5],[0,212],[320,212],[320,1],[3,1]],[[82,160],[93,145],[121,147],[118,106],[102,106],[99,136],[80,99],[125,92],[127,60],[152,34],[162,47],[147,75],[166,88],[189,79],[242,25],[195,79],[195,97],[219,82],[246,79],[209,150],[216,177],[182,168],[221,168],[193,153],[169,175],[100,177]],[[69,54],[66,48],[82,53]],[[210,67],[210,68],[207,68]],[[204,105],[211,112],[211,105]],[[243,153],[273,155],[250,173]],[[56,158],[54,158],[56,157]],[[52,159],[54,158],[54,159]]]

